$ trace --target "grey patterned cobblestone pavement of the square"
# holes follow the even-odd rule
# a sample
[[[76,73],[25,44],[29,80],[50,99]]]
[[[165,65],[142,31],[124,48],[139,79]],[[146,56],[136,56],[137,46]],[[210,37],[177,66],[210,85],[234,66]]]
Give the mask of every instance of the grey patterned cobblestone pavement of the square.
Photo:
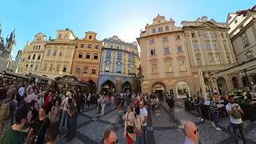
[[[184,133],[182,131],[182,124],[186,120],[191,120],[198,125],[201,144],[231,144],[234,143],[233,135],[227,134],[224,127],[229,125],[229,118],[224,117],[220,119],[222,131],[215,130],[211,126],[210,121],[200,122],[197,113],[184,110],[184,103],[175,101],[175,118],[177,122],[170,122],[170,117],[167,114],[166,103],[162,103],[161,114],[155,115],[149,109],[148,127],[147,127],[147,143],[148,144],[181,144],[184,140]],[[78,130],[77,136],[74,138],[74,144],[88,143],[97,144],[102,143],[103,133],[106,128],[111,127],[117,131],[118,143],[125,144],[126,138],[123,138],[122,120],[118,117],[117,110],[112,110],[106,107],[106,114],[100,116],[97,114],[96,106],[90,109],[86,108],[78,115]],[[256,144],[256,122],[245,121],[244,130],[246,139],[249,144]],[[232,132],[231,132],[232,133]],[[62,134],[63,135],[63,134]],[[62,135],[58,144],[65,144]],[[242,142],[241,142],[242,143]]]

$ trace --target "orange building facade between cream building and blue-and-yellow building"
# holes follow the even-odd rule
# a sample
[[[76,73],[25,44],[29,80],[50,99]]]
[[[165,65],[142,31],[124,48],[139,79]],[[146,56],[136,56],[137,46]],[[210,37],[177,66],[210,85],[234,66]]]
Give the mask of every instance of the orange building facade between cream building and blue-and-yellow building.
[[[86,32],[85,38],[77,38],[74,58],[71,66],[72,75],[89,82],[92,90],[97,90],[98,70],[102,53],[102,41],[96,33]]]

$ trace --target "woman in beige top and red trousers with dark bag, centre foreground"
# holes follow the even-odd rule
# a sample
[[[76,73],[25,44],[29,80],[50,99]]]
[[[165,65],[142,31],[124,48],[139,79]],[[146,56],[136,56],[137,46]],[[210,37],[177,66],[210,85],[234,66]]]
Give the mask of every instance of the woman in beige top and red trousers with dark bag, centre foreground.
[[[133,144],[136,141],[136,134],[134,134],[135,116],[130,106],[127,107],[127,112],[122,119],[125,120],[124,137],[127,138],[128,144]]]

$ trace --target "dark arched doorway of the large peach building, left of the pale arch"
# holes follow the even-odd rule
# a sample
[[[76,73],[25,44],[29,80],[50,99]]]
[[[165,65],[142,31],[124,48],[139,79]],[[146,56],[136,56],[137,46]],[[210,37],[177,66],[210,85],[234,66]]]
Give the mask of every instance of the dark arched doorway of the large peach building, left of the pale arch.
[[[151,87],[151,93],[158,94],[161,100],[165,100],[166,85],[163,82],[154,82]]]

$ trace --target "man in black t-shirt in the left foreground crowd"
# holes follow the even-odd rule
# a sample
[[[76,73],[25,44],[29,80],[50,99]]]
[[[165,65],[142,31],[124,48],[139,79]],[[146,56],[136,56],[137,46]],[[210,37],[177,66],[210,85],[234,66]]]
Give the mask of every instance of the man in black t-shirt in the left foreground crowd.
[[[45,140],[46,130],[50,126],[50,119],[46,117],[46,109],[43,107],[39,109],[38,114],[39,116],[34,120],[30,132],[27,136],[27,140],[33,135],[38,135],[38,144],[43,144]]]

